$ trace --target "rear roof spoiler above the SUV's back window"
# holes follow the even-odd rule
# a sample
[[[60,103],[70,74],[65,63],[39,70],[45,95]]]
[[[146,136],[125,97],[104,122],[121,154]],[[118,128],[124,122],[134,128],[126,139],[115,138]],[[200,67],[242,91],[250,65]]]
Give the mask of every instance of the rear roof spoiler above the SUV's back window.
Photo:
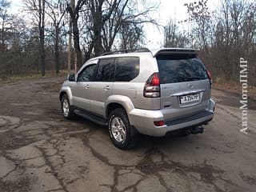
[[[198,54],[199,50],[187,49],[187,48],[162,48],[159,50],[152,50],[151,53],[153,57],[157,57],[161,54]]]

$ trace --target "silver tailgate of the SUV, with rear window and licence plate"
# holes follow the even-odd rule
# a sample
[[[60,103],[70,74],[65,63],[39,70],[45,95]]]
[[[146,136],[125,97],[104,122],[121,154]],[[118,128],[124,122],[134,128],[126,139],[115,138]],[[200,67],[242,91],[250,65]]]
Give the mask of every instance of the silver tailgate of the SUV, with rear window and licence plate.
[[[180,118],[206,110],[210,80],[197,55],[158,55],[157,61],[164,118]]]

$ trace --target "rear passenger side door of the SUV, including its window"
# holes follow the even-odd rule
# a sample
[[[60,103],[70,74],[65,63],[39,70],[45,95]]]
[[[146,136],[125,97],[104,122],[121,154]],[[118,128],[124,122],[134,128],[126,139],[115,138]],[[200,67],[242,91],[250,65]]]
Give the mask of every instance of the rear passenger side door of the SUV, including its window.
[[[101,58],[90,82],[90,111],[104,117],[106,98],[112,94],[115,58]]]

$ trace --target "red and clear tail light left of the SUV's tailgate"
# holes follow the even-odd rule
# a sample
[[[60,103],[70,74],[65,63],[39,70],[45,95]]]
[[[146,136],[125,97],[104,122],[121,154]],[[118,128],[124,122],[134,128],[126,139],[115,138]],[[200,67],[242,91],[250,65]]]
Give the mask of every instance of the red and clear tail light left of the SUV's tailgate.
[[[158,73],[150,75],[144,86],[143,95],[145,98],[159,98],[160,97],[160,78]]]

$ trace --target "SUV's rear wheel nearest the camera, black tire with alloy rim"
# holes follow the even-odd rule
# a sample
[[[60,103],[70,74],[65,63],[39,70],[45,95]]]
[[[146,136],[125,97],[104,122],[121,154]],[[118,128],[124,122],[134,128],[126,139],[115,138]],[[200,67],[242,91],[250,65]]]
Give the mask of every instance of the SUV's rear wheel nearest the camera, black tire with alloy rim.
[[[117,108],[110,112],[108,127],[114,146],[121,150],[129,150],[136,146],[138,133],[134,126],[130,126],[125,110]]]

